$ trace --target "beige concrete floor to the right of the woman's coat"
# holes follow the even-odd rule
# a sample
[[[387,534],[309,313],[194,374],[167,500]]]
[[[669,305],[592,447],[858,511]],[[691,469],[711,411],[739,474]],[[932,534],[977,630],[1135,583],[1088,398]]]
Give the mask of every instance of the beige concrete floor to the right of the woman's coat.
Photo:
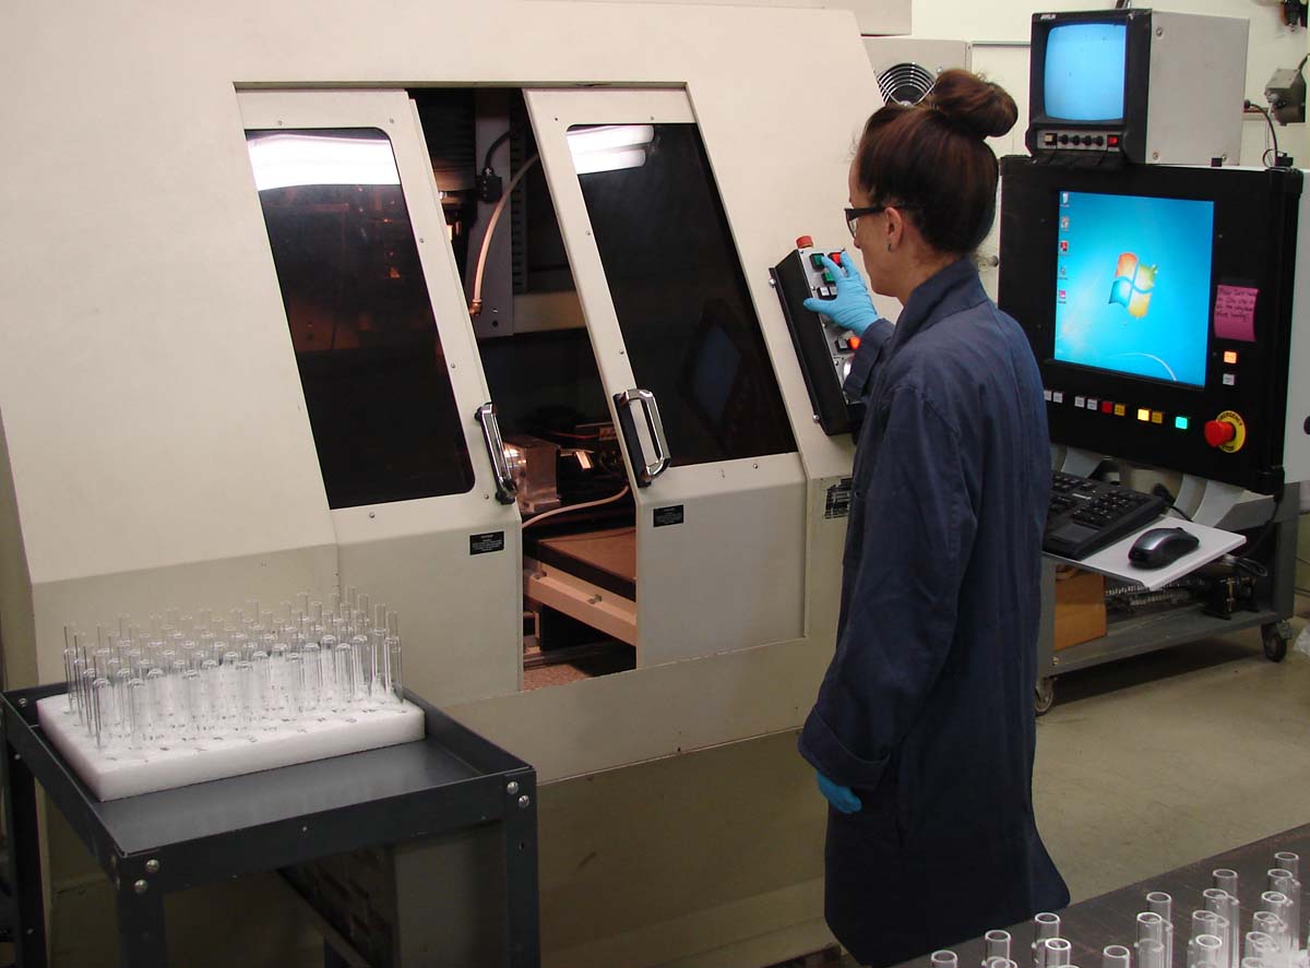
[[[1039,720],[1038,823],[1094,897],[1310,821],[1307,751],[1310,656],[1265,660],[1258,629],[1086,669]]]

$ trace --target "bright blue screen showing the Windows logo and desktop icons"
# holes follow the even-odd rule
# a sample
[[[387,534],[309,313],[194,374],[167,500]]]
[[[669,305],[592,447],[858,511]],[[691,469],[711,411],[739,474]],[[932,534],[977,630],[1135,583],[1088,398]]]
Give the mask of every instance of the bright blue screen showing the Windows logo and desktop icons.
[[[1055,359],[1205,385],[1214,203],[1058,191]]]

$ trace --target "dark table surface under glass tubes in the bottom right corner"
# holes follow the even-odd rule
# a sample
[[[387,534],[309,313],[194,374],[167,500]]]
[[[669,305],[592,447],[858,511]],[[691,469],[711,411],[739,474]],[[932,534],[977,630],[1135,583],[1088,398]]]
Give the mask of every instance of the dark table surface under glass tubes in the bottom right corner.
[[[1137,914],[1146,910],[1146,893],[1165,891],[1174,899],[1174,964],[1187,964],[1187,942],[1191,938],[1191,917],[1193,910],[1203,909],[1201,891],[1213,887],[1213,871],[1226,867],[1238,872],[1238,896],[1242,901],[1242,933],[1251,930],[1251,913],[1256,910],[1259,896],[1267,888],[1267,872],[1277,865],[1273,854],[1290,850],[1301,855],[1301,876],[1310,868],[1310,825],[1298,827],[1272,837],[1247,844],[1224,854],[1208,857],[1196,863],[1179,867],[1117,891],[1073,904],[1060,914],[1060,935],[1073,946],[1073,964],[1079,968],[1100,968],[1102,950],[1107,944],[1132,947],[1137,939]],[[1019,968],[1032,964],[1032,922],[1027,921],[1007,929],[1011,935],[1010,958]],[[973,968],[982,963],[982,940],[973,939],[951,947],[959,955],[962,968]],[[907,961],[907,965],[922,968],[929,958]]]

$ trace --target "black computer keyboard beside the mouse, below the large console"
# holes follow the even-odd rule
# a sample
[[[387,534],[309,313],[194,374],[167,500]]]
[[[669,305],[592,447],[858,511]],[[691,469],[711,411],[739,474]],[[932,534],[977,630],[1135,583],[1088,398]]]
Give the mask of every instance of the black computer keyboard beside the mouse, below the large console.
[[[1154,494],[1056,470],[1041,550],[1081,561],[1125,534],[1146,527],[1169,510]]]

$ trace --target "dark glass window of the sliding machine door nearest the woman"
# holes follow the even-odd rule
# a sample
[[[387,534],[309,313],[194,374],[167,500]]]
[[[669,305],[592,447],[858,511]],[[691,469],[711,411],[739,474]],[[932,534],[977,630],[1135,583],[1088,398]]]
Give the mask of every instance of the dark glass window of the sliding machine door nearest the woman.
[[[569,131],[637,384],[672,464],[795,451],[705,145],[694,124]]]

